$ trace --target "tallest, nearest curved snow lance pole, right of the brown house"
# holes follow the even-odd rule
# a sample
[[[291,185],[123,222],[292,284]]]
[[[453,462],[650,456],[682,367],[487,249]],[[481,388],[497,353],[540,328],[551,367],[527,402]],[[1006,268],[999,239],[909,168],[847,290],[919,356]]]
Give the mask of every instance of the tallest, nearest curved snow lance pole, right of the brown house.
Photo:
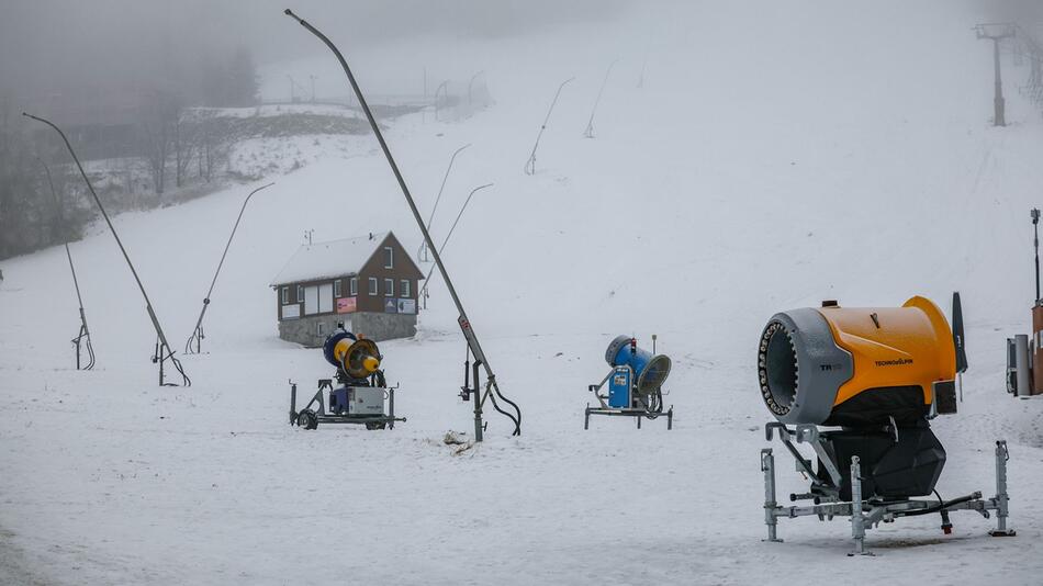
[[[373,129],[373,135],[377,136],[377,142],[380,143],[380,149],[384,153],[384,157],[388,159],[388,165],[391,167],[391,171],[394,173],[395,180],[399,182],[399,188],[402,190],[402,195],[405,196],[406,203],[410,204],[410,210],[413,212],[413,218],[416,221],[416,225],[420,229],[420,234],[424,235],[424,241],[427,243],[427,247],[435,258],[435,264],[438,266],[438,272],[441,273],[441,278],[446,281],[446,289],[449,290],[449,295],[452,296],[452,302],[456,304],[457,312],[460,314],[459,317],[457,317],[457,323],[460,324],[460,329],[463,331],[464,339],[467,339],[468,348],[474,356],[475,362],[481,362],[481,364],[485,368],[486,383],[484,396],[492,397],[494,404],[498,397],[514,407],[516,417],[512,417],[512,420],[514,421],[514,432],[512,435],[520,436],[522,409],[517,406],[517,404],[503,396],[503,394],[500,392],[500,385],[496,384],[496,375],[493,373],[492,367],[489,365],[489,362],[485,358],[485,352],[482,351],[482,346],[478,341],[478,335],[474,334],[474,329],[471,327],[471,320],[468,318],[467,312],[463,309],[463,304],[460,302],[459,295],[457,295],[456,288],[452,286],[452,281],[449,279],[449,273],[446,271],[446,267],[441,262],[441,257],[438,255],[438,250],[435,249],[435,243],[431,240],[431,235],[427,230],[427,226],[424,225],[424,218],[420,217],[420,212],[416,207],[416,202],[413,201],[413,195],[410,194],[410,188],[405,184],[405,179],[402,177],[402,172],[399,170],[399,166],[395,164],[395,159],[391,155],[391,150],[388,148],[388,143],[384,140],[384,136],[380,132],[380,125],[377,124],[377,119],[373,117],[373,112],[369,109],[369,104],[366,102],[366,97],[362,95],[362,90],[359,89],[359,84],[355,80],[355,75],[351,74],[351,68],[348,67],[348,61],[345,60],[344,55],[340,53],[337,46],[334,45],[333,42],[326,37],[326,35],[312,26],[307,21],[294,14],[290,9],[285,10],[285,14],[292,16],[301,24],[301,26],[307,29],[309,32],[325,43],[326,46],[329,47],[329,49],[334,53],[334,55],[336,55],[337,60],[340,61],[340,67],[344,68],[344,72],[348,77],[348,82],[351,84],[351,90],[355,92],[356,98],[359,99],[359,106],[361,106],[362,112],[366,114],[366,119],[369,121],[369,124]],[[476,388],[478,385],[475,385],[475,390]],[[478,396],[475,394],[474,397],[474,439],[476,441],[482,440],[483,426],[481,414],[484,396]]]

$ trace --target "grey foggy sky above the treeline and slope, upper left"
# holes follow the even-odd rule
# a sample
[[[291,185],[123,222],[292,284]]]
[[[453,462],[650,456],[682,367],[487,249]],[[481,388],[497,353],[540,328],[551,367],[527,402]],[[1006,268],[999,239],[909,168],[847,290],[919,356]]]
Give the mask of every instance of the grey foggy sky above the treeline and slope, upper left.
[[[0,98],[131,87],[237,46],[258,65],[325,50],[282,11],[338,42],[497,37],[613,15],[626,0],[2,0]]]

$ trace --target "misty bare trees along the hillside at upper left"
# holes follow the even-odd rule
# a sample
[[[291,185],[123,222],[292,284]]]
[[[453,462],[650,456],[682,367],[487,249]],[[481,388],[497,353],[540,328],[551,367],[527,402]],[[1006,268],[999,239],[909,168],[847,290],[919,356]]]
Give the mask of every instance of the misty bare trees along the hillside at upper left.
[[[148,200],[148,204],[155,205],[162,201],[171,183],[182,188],[213,181],[227,159],[232,138],[225,135],[226,125],[215,123],[212,112],[195,106],[236,108],[258,102],[256,68],[250,54],[243,48],[225,59],[208,59],[197,68],[169,75],[177,81],[157,77],[146,84],[152,89],[143,91],[139,86],[133,90],[137,106],[127,113],[126,120],[78,122],[87,128],[96,124],[103,132],[70,133],[66,128],[81,158],[125,159],[123,185],[96,184],[103,198],[115,196],[115,190],[124,192],[127,199],[136,199],[137,206]],[[110,94],[126,101],[126,93],[113,91],[105,95]],[[80,92],[70,92],[70,97],[74,101],[81,98]],[[116,110],[114,104],[93,105],[100,111]],[[83,199],[82,180],[70,172],[64,144],[48,129],[26,124],[19,115],[22,108],[25,106],[16,104],[12,97],[0,95],[0,259],[78,239],[94,215],[93,206]],[[60,215],[42,160],[49,164],[61,198]],[[141,181],[134,181],[134,160],[147,170],[147,189],[142,189]],[[141,173],[137,177],[144,179]],[[152,191],[153,196],[145,198],[142,191]]]

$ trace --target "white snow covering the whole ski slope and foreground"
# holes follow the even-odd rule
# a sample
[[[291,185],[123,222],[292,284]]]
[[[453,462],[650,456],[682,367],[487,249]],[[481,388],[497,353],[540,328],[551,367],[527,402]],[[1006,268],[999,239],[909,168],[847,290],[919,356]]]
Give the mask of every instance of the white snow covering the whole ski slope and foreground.
[[[1007,397],[1003,342],[1030,327],[1027,212],[1039,205],[1043,124],[1014,89],[1024,69],[1010,67],[1011,125],[989,126],[991,52],[969,31],[979,14],[907,4],[662,4],[447,41],[444,52],[390,49],[392,61],[485,69],[496,95],[456,124],[416,114],[386,132],[424,213],[451,153],[474,145],[446,185],[436,241],[470,190],[495,182],[445,258],[522,407],[523,436],[490,412],[486,441],[459,455],[441,438],[469,431],[472,415],[456,396],[464,345],[440,279],[418,336],[381,343],[406,422],[287,425],[288,379],[307,390],[330,375],[321,352],[277,337],[268,284],[302,232],[379,227],[408,250],[419,244],[367,137],[333,154],[303,142],[314,162],[293,172],[114,218],[178,347],[242,199],[277,182],[251,201],[228,252],[206,353],[182,357],[191,387],[156,386],[155,334],[102,226],[70,245],[94,371],[71,367],[78,325],[60,247],[3,261],[0,582],[1039,584],[1043,402]],[[617,55],[597,138],[586,139]],[[365,89],[381,56],[349,59]],[[537,174],[525,176],[553,91],[572,75]],[[933,425],[949,452],[938,488],[990,496],[994,441],[1007,439],[1018,537],[989,538],[994,520],[957,512],[952,536],[933,516],[871,530],[876,557],[844,555],[842,519],[784,519],[785,543],[762,542],[770,415],[754,353],[766,319],[823,298],[896,305],[922,294],[944,307],[954,290],[971,371],[961,413]],[[648,345],[653,333],[673,360],[674,429],[602,418],[584,431],[605,346],[619,334]],[[774,448],[780,494],[804,492]]]

